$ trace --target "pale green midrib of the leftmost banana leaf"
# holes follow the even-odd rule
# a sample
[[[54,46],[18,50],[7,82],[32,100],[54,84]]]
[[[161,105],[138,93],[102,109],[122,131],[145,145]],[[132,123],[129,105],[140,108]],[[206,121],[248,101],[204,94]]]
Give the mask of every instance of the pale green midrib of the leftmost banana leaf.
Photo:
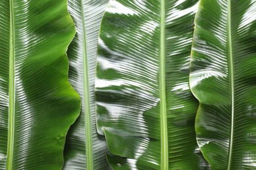
[[[15,60],[14,60],[14,7],[10,2],[10,37],[9,37],[9,118],[7,141],[6,169],[12,170],[12,155],[14,148],[14,105],[15,105]]]

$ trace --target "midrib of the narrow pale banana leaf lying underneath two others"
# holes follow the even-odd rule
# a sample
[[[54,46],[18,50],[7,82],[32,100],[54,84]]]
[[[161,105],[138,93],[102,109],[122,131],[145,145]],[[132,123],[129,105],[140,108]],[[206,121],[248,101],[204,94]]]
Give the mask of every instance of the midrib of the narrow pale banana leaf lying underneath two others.
[[[87,42],[86,42],[86,28],[85,16],[83,11],[83,1],[81,2],[81,17],[83,24],[83,108],[85,111],[85,152],[87,158],[87,169],[93,169],[93,146],[92,146],[92,129],[91,129],[91,107],[90,107],[90,92],[89,92],[89,75],[87,62]]]

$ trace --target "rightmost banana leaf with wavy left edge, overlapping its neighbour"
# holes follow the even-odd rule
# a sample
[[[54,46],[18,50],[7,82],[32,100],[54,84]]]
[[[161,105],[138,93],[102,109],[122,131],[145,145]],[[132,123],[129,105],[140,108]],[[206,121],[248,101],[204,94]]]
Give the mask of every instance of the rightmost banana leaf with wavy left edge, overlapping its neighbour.
[[[211,169],[256,169],[256,1],[202,0],[195,24],[198,144]]]

